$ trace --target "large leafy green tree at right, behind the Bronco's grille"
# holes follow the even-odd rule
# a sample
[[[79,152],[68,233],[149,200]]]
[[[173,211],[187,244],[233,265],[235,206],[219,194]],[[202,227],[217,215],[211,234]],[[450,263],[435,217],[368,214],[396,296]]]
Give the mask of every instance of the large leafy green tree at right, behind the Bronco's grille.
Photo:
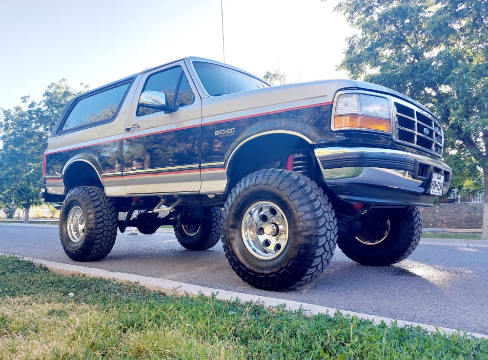
[[[450,139],[445,154],[482,169],[488,189],[488,0],[342,0],[336,11],[358,30],[339,68],[424,103]]]

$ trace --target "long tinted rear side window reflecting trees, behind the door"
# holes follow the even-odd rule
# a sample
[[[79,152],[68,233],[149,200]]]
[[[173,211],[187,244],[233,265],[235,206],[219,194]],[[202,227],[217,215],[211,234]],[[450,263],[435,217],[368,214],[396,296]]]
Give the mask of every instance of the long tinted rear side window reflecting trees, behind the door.
[[[82,98],[69,113],[61,131],[112,119],[119,109],[129,84],[125,83]]]

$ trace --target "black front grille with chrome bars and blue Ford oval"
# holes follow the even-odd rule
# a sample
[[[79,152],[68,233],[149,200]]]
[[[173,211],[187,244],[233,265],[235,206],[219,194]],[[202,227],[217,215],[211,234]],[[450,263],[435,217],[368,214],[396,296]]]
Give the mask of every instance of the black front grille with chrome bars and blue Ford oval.
[[[437,118],[415,105],[395,101],[395,140],[442,156],[443,131]]]

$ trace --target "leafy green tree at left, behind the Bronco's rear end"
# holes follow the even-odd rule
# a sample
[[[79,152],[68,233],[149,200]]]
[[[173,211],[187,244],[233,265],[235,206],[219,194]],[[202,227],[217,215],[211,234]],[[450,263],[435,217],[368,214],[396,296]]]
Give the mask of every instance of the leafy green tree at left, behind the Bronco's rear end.
[[[47,87],[41,102],[26,96],[22,98],[26,109],[0,109],[0,202],[25,208],[24,222],[29,220],[30,206],[40,202],[42,144],[66,103],[77,94],[62,79]]]

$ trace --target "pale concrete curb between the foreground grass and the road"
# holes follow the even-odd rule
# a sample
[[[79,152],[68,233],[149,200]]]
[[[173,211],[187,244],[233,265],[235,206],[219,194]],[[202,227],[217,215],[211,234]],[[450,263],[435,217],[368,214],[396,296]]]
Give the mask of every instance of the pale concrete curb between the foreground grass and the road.
[[[2,253],[0,253],[0,255],[13,256],[13,255],[2,254]],[[18,257],[18,258],[21,258],[21,257]],[[439,327],[439,326],[436,327],[434,325],[422,324],[422,323],[418,323],[418,322],[390,319],[390,318],[385,318],[382,316],[356,313],[356,312],[352,312],[352,311],[334,309],[334,308],[330,308],[330,307],[319,306],[319,305],[314,305],[314,304],[309,304],[309,303],[304,303],[304,302],[298,302],[298,301],[268,298],[268,297],[257,296],[257,295],[237,293],[237,292],[227,291],[227,290],[212,289],[209,287],[192,285],[192,284],[187,284],[187,283],[179,282],[179,281],[165,280],[165,279],[159,279],[159,278],[150,278],[147,276],[133,275],[133,274],[127,274],[127,273],[114,273],[114,272],[110,272],[110,271],[103,270],[103,269],[96,269],[96,268],[84,267],[84,266],[79,266],[79,265],[63,264],[60,262],[40,260],[40,259],[34,259],[34,258],[25,258],[24,257],[23,259],[28,260],[28,261],[33,261],[36,264],[44,265],[50,271],[55,272],[55,273],[60,274],[60,275],[75,275],[75,276],[83,275],[83,276],[87,276],[90,278],[102,278],[102,279],[106,279],[106,280],[112,279],[112,280],[115,280],[115,281],[121,282],[121,283],[137,282],[149,290],[161,291],[164,294],[168,294],[168,295],[197,296],[199,294],[203,294],[207,297],[215,295],[216,298],[219,300],[232,301],[232,300],[239,299],[242,301],[253,301],[253,302],[263,304],[264,306],[273,306],[273,307],[285,304],[286,308],[288,310],[298,310],[298,309],[302,308],[302,309],[308,310],[308,312],[312,315],[313,314],[325,313],[325,314],[329,314],[332,316],[332,315],[334,315],[334,313],[337,310],[339,310],[344,315],[357,316],[358,318],[372,320],[375,324],[379,324],[381,321],[384,321],[387,324],[390,324],[390,323],[396,321],[397,325],[400,327],[405,326],[405,325],[407,325],[407,326],[413,325],[413,326],[420,326],[429,332],[440,331],[442,333],[447,333],[447,334],[452,334],[452,333],[458,332],[455,329]],[[475,338],[488,339],[488,335],[484,335],[484,334],[469,333],[469,332],[467,334],[472,335]]]

